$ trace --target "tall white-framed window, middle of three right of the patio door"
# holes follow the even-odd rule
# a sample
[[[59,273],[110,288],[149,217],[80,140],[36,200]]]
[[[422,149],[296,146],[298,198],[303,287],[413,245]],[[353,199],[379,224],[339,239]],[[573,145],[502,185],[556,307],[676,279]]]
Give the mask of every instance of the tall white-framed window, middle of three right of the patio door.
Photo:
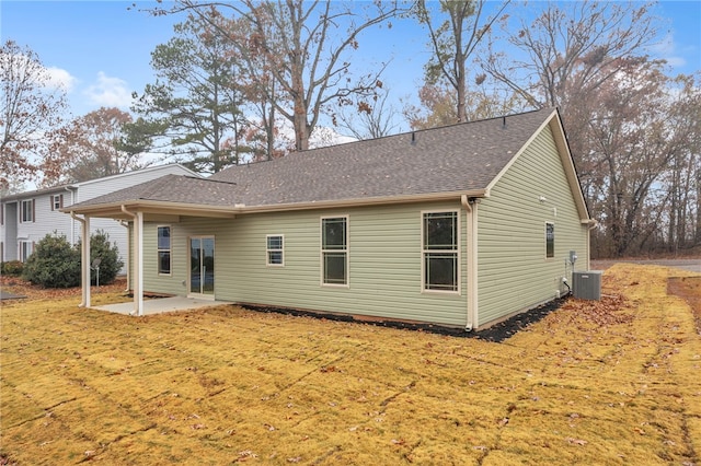
[[[321,219],[321,282],[348,286],[348,218]]]

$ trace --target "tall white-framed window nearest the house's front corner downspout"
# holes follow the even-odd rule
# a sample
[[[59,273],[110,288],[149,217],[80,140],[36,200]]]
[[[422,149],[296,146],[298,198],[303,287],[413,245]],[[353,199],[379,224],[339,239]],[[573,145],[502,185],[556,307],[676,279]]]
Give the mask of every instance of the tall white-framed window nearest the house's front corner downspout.
[[[422,282],[426,291],[460,291],[460,215],[423,212]]]

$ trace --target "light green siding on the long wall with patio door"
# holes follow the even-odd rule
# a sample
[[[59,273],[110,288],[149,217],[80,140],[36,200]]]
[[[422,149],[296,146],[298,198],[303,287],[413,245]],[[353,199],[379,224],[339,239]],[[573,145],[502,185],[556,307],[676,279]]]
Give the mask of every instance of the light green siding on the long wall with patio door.
[[[145,290],[186,294],[187,238],[215,236],[217,300],[389,319],[466,324],[464,293],[422,290],[422,212],[459,210],[460,201],[183,218],[171,223],[170,277],[158,276],[157,223],[145,224]],[[321,219],[347,217],[348,287],[322,284]],[[466,215],[459,214],[460,231]],[[162,224],[162,223],[160,223]],[[267,236],[285,237],[285,266],[267,265]],[[466,290],[464,233],[460,240]],[[150,257],[153,252],[153,257]]]

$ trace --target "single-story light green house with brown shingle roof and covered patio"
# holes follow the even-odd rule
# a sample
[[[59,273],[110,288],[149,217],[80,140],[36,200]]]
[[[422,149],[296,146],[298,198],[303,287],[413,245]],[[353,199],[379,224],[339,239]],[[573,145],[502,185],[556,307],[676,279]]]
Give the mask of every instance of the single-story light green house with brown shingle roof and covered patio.
[[[137,314],[148,290],[466,329],[565,293],[595,224],[552,108],[168,176],[64,210],[129,221]]]

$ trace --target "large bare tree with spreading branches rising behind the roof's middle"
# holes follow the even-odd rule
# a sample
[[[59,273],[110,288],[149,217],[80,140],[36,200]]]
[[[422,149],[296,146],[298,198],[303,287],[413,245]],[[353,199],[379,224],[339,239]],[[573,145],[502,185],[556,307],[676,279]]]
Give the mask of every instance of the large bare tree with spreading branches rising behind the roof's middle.
[[[268,96],[268,102],[292,124],[297,150],[309,149],[309,137],[326,106],[375,92],[379,73],[354,79],[349,54],[360,46],[364,31],[406,11],[397,0],[368,2],[361,7],[319,0],[242,0],[238,3],[179,0],[173,8],[160,13],[202,11],[212,4],[229,8],[235,16],[251,23],[258,40],[256,50],[265,55],[274,79],[274,83],[261,89],[275,90],[275,96]],[[244,44],[233,45],[244,59],[255,58]]]

